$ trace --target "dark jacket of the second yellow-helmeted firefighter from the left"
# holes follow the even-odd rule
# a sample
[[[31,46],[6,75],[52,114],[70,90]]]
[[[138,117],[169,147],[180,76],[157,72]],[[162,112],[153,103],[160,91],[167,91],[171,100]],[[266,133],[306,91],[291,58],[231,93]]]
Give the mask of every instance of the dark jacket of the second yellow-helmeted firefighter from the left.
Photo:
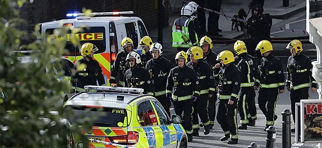
[[[111,70],[110,83],[115,83],[115,78],[120,73],[120,84],[124,86],[124,73],[127,69],[130,68],[130,65],[126,62],[127,53],[125,51],[121,51],[116,55],[116,59],[113,63],[113,68]]]

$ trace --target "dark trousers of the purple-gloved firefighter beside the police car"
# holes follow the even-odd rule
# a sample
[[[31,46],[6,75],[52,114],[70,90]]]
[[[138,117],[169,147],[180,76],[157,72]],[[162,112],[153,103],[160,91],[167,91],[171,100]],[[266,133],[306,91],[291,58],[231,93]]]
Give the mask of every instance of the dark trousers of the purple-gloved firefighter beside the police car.
[[[187,134],[192,134],[192,100],[174,101],[173,108],[179,117],[182,119],[182,127],[185,129]]]

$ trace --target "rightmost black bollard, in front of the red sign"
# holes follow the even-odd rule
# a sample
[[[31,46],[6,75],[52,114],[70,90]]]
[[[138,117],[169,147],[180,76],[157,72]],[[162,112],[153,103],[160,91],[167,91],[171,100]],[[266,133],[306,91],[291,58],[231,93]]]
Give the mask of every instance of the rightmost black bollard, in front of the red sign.
[[[284,109],[282,114],[282,148],[291,148],[291,114],[289,109]]]

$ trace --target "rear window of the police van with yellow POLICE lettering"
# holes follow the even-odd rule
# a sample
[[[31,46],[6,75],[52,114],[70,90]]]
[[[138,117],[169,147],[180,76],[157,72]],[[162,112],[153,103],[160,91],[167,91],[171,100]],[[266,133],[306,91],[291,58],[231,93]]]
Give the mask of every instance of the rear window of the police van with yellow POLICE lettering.
[[[52,35],[56,28],[46,29],[46,35]],[[80,56],[80,49],[78,46],[74,46],[71,39],[78,38],[80,40],[80,46],[85,42],[93,43],[99,50],[97,53],[103,53],[106,50],[106,36],[105,27],[85,27],[83,31],[76,34],[66,35],[67,44],[65,46],[66,52],[63,53],[64,56]]]

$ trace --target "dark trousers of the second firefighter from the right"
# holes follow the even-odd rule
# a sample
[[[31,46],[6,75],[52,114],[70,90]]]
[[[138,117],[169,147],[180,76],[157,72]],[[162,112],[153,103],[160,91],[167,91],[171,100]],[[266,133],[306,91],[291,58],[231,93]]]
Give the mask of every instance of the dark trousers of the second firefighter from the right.
[[[274,125],[276,102],[279,100],[278,88],[260,88],[258,106],[266,117],[266,126]]]

